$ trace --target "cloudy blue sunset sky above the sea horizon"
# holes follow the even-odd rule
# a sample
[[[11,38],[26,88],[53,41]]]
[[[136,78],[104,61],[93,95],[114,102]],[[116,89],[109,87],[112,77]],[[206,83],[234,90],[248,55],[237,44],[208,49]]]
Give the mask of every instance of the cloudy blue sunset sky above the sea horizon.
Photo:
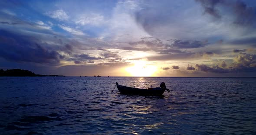
[[[256,1],[0,0],[0,68],[256,77]]]

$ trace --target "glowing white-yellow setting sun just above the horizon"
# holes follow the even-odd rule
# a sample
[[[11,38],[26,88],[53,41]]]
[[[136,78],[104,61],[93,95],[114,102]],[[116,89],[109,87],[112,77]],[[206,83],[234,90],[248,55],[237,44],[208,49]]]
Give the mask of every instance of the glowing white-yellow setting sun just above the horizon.
[[[134,61],[134,66],[125,68],[130,76],[133,77],[151,77],[157,71],[157,67],[148,65],[146,61]]]

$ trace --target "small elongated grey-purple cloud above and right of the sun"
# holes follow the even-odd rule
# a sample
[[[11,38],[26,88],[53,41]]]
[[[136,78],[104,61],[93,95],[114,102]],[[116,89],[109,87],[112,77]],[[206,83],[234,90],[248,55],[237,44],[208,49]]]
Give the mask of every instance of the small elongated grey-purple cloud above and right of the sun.
[[[174,39],[174,42],[171,44],[174,48],[200,48],[207,45],[207,42],[201,42],[197,40],[180,40]]]

